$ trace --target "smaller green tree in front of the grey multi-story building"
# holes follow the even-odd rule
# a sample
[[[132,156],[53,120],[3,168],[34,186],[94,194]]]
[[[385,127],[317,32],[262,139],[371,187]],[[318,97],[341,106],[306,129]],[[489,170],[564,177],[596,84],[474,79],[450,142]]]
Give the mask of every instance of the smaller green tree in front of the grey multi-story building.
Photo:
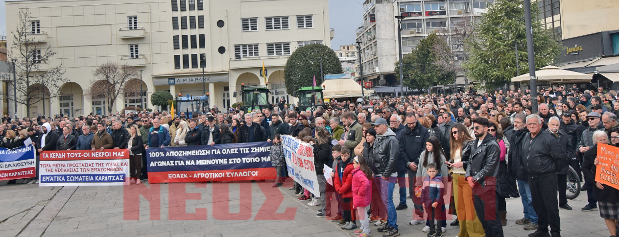
[[[419,40],[412,53],[402,57],[404,85],[409,88],[425,90],[436,85],[453,84],[454,71],[441,66],[437,51],[449,51],[443,38],[430,33],[427,38]],[[399,62],[396,62],[396,78],[400,78]]]

